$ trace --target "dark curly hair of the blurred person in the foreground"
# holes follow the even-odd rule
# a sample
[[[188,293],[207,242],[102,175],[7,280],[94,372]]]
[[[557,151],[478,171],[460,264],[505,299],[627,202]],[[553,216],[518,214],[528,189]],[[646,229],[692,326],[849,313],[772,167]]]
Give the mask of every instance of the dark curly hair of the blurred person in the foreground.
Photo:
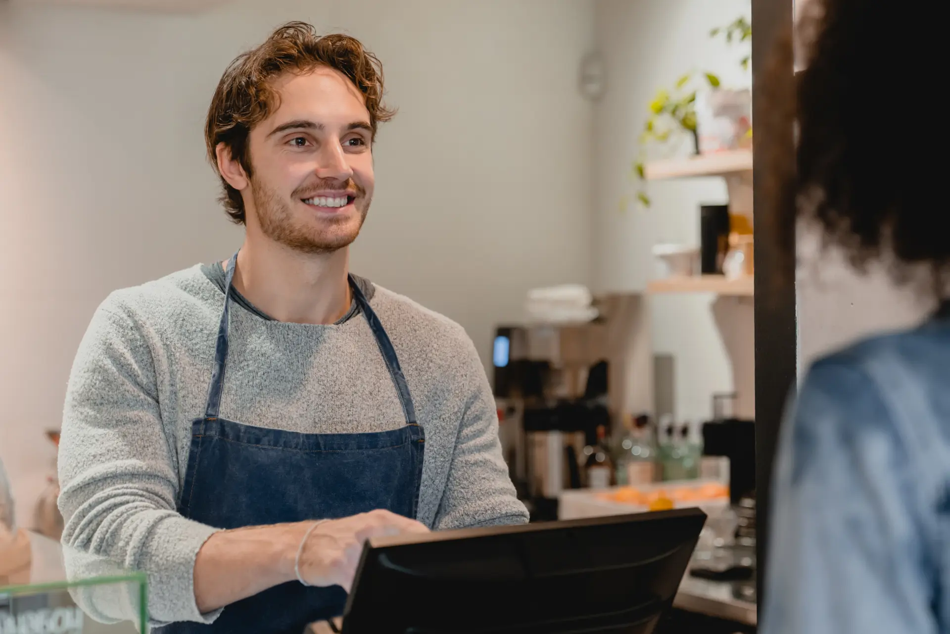
[[[770,138],[780,139],[796,125],[797,146],[794,162],[782,143],[766,148],[766,189],[780,226],[817,222],[824,244],[843,247],[859,271],[883,257],[903,281],[921,266],[943,292],[950,222],[940,211],[937,161],[927,157],[944,149],[933,145],[935,128],[945,133],[945,106],[921,103],[910,79],[922,70],[940,81],[943,65],[933,52],[937,42],[921,32],[930,29],[921,25],[927,9],[909,5],[807,5],[796,33],[805,70],[791,80],[790,34],[775,48],[769,70],[764,125],[772,126]],[[921,14],[914,13],[918,5]],[[900,22],[911,14],[920,19]],[[780,242],[782,255],[794,258],[794,235],[783,234]]]

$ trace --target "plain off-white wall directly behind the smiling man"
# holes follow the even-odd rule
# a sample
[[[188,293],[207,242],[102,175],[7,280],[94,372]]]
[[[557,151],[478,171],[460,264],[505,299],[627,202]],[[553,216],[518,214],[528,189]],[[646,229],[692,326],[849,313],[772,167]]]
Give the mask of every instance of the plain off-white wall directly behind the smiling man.
[[[353,270],[461,322],[487,357],[531,286],[590,277],[592,107],[577,0],[246,0],[199,15],[0,5],[0,458],[32,502],[66,378],[112,289],[224,258],[202,119],[226,64],[289,19],[383,60]]]

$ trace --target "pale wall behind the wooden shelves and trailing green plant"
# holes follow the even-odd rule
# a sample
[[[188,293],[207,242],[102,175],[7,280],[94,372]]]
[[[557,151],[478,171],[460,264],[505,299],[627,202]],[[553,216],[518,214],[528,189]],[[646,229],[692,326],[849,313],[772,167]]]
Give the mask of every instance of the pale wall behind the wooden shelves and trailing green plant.
[[[593,283],[600,291],[642,291],[655,275],[651,248],[659,242],[699,244],[702,202],[726,202],[721,179],[649,184],[653,205],[619,211],[636,191],[629,175],[637,137],[656,89],[672,86],[690,69],[711,70],[724,86],[749,86],[738,65],[740,48],[712,40],[713,27],[750,15],[749,0],[598,0],[599,48],[607,66],[607,92],[596,107],[597,201]],[[688,153],[689,148],[684,147]],[[729,359],[713,322],[712,296],[651,298],[657,353],[675,355],[676,414],[711,415],[711,394],[731,391]]]

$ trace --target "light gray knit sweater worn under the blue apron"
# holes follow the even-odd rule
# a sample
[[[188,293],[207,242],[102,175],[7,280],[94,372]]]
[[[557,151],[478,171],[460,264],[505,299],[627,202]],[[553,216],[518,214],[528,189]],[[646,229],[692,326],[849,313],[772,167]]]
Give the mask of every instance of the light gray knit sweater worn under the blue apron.
[[[485,371],[465,331],[384,288],[370,299],[426,432],[418,519],[434,529],[527,521],[508,479]],[[117,291],[96,311],[69,377],[59,451],[71,578],[125,567],[149,581],[151,624],[210,622],[195,603],[195,557],[216,528],[176,511],[191,422],[203,412],[224,294],[200,266]],[[366,319],[268,320],[235,303],[220,414],[307,433],[405,424]],[[100,620],[125,601],[85,597]]]

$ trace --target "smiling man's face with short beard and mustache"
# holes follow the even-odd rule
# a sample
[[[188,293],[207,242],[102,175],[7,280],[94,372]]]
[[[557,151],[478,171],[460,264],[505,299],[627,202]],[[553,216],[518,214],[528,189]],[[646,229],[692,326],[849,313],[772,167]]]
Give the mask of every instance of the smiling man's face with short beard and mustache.
[[[271,240],[305,253],[348,246],[366,219],[373,189],[363,95],[327,67],[285,73],[274,87],[280,105],[248,139],[253,176],[243,192],[247,220],[257,221]]]

